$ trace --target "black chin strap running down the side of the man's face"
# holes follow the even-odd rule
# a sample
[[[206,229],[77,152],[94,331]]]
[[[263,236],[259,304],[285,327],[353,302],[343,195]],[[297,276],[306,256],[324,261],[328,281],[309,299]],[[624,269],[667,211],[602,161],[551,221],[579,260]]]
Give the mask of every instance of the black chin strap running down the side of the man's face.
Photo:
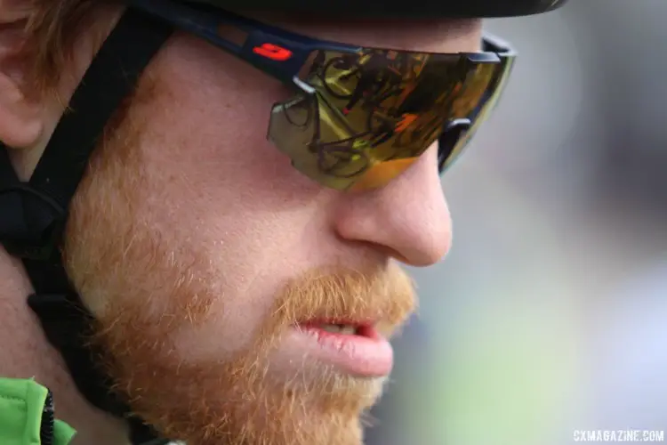
[[[0,243],[23,260],[35,288],[28,304],[78,390],[99,409],[126,418],[134,444],[161,442],[110,392],[108,376],[96,366],[98,352],[84,343],[92,315],[68,281],[59,243],[69,202],[105,125],[172,33],[148,15],[125,12],[86,71],[29,182],[19,181],[0,144]]]

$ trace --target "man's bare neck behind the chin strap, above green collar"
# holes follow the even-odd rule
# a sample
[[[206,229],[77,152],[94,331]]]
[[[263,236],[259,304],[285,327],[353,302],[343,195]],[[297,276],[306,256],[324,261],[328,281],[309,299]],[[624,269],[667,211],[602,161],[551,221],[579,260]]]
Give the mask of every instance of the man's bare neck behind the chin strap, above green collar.
[[[46,341],[26,302],[32,287],[20,261],[0,247],[0,376],[31,378],[48,387],[55,416],[76,429],[73,445],[125,445],[125,423],[95,409],[77,391],[60,354]]]

